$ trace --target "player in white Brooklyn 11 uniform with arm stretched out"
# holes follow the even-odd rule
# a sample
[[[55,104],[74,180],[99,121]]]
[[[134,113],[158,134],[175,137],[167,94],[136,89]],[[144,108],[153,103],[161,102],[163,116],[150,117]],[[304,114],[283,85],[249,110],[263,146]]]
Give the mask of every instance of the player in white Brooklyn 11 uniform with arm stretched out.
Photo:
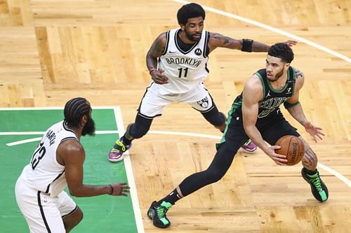
[[[147,52],[146,64],[152,82],[141,100],[135,122],[110,150],[108,160],[123,160],[123,153],[131,148],[133,139],[140,139],[150,129],[154,117],[161,115],[164,106],[183,102],[199,111],[213,126],[225,130],[225,115],[218,111],[203,81],[208,76],[208,55],[216,48],[230,48],[244,52],[267,52],[270,45],[249,39],[236,40],[221,34],[204,31],[205,11],[197,3],[189,3],[178,10],[180,28],[160,34]],[[296,41],[286,41],[288,45]],[[243,141],[242,149],[254,153],[257,146]]]

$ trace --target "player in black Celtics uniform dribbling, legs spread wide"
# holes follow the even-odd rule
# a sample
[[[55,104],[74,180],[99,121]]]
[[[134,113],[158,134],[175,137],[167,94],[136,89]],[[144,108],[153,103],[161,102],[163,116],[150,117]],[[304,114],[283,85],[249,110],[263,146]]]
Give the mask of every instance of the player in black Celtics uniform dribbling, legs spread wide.
[[[286,156],[275,153],[274,150],[280,146],[274,144],[284,135],[298,136],[305,145],[301,174],[310,183],[315,199],[319,202],[328,199],[328,189],[317,171],[317,156],[296,128],[285,120],[279,109],[284,104],[314,141],[317,142],[317,139],[324,136],[322,129],[315,127],[303,113],[298,97],[304,77],[303,73],[290,66],[292,60],[293,51],[289,45],[272,45],[268,50],[265,69],[254,73],[246,81],[243,92],[234,100],[228,113],[229,124],[225,128],[223,139],[217,144],[217,153],[208,169],[188,176],[169,195],[159,202],[152,202],[147,215],[156,227],[164,228],[171,224],[166,212],[179,199],[219,181],[230,168],[237,150],[249,138],[276,164],[286,165]]]

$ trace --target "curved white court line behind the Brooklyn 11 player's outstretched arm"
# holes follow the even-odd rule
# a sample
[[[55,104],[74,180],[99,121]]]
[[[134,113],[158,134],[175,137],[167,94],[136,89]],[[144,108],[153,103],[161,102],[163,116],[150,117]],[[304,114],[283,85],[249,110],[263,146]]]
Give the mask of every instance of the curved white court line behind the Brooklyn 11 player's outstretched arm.
[[[178,3],[183,3],[183,4],[190,3],[190,1],[183,1],[183,0],[171,0],[171,1],[176,1],[176,2],[178,2]],[[322,46],[322,45],[319,45],[319,44],[317,44],[317,43],[314,43],[314,42],[312,42],[312,41],[309,41],[309,40],[307,40],[307,39],[305,39],[305,38],[302,38],[302,37],[300,37],[300,36],[296,36],[296,35],[291,34],[291,33],[289,33],[289,32],[283,31],[282,29],[277,29],[276,27],[272,27],[272,26],[269,26],[269,25],[267,25],[267,24],[263,24],[263,23],[261,23],[261,22],[257,22],[257,21],[255,21],[255,20],[250,20],[250,19],[248,19],[248,18],[246,18],[246,17],[241,17],[241,16],[235,15],[235,14],[233,14],[233,13],[227,13],[227,12],[225,12],[225,11],[223,11],[223,10],[218,10],[218,9],[216,9],[216,8],[211,8],[211,7],[203,6],[203,5],[201,5],[201,6],[202,6],[205,10],[211,11],[211,12],[213,12],[213,13],[217,13],[218,15],[224,15],[224,16],[227,16],[227,17],[231,17],[231,18],[233,18],[233,19],[235,19],[235,20],[240,20],[240,21],[242,21],[242,22],[247,22],[248,24],[253,24],[253,25],[257,26],[257,27],[261,27],[261,28],[263,28],[263,29],[267,29],[268,31],[273,31],[273,32],[275,32],[275,33],[277,33],[277,34],[281,34],[281,35],[283,35],[283,36],[286,36],[286,37],[289,37],[289,38],[293,38],[293,39],[296,40],[296,41],[303,42],[303,43],[305,43],[305,44],[307,44],[307,45],[310,45],[310,46],[312,46],[312,47],[314,47],[314,48],[317,48],[317,49],[319,49],[319,50],[322,50],[322,51],[324,51],[324,52],[327,52],[327,53],[329,53],[329,54],[331,54],[331,55],[333,55],[333,56],[336,56],[336,57],[339,57],[340,59],[343,59],[343,60],[346,61],[346,62],[351,63],[351,58],[350,58],[350,57],[346,57],[345,55],[342,55],[342,54],[340,54],[340,53],[338,53],[338,52],[336,52],[336,51],[333,51],[333,50],[331,50],[331,49],[329,49],[329,48],[326,48],[326,47],[324,47],[324,46]]]

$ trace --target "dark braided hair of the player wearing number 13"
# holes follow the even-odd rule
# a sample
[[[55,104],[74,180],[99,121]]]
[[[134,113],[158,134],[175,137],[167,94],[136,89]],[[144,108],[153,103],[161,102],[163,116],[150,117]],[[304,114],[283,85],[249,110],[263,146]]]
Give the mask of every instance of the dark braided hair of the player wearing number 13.
[[[91,106],[86,99],[81,97],[70,99],[65,104],[65,110],[63,111],[65,115],[65,122],[67,122],[67,126],[79,127],[81,118],[84,115],[89,116],[90,111]]]

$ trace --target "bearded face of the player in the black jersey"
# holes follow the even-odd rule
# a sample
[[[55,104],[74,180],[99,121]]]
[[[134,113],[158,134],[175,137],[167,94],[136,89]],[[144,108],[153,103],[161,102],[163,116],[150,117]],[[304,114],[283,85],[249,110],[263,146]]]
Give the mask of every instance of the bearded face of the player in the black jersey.
[[[282,77],[283,73],[286,72],[288,67],[289,63],[282,62],[282,59],[279,57],[267,55],[265,60],[265,70],[267,73],[267,78],[271,82],[275,82]]]

